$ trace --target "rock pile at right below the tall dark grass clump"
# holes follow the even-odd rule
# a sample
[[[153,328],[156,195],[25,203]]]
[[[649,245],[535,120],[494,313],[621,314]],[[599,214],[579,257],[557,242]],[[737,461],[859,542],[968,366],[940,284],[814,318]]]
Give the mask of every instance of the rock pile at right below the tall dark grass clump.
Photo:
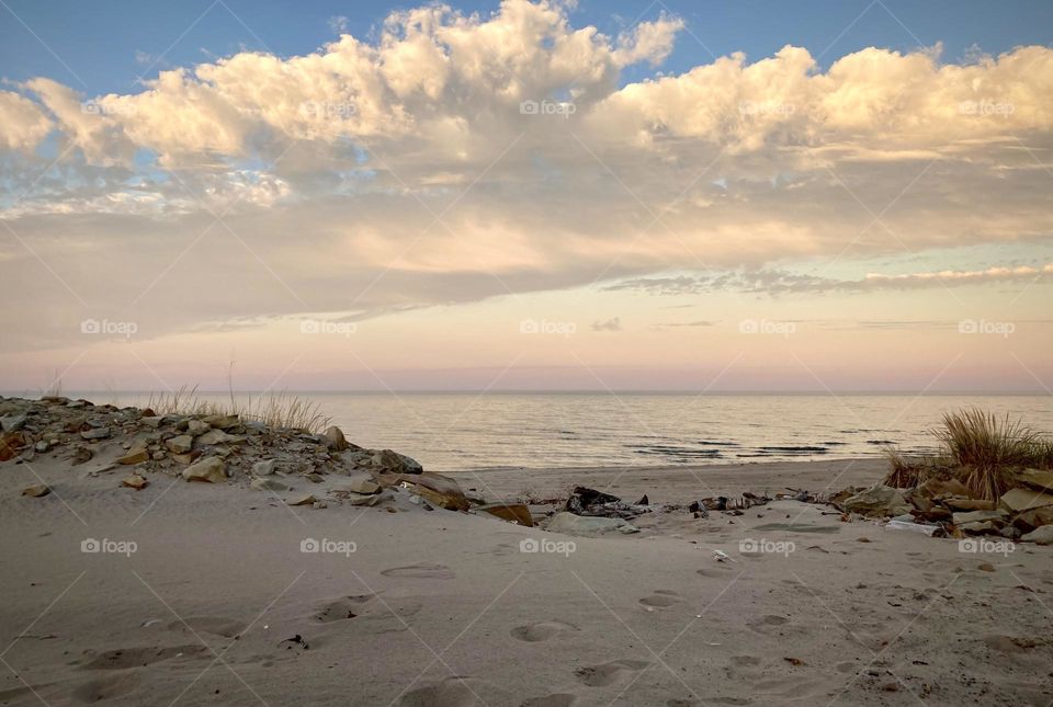
[[[998,501],[976,498],[954,478],[931,478],[910,489],[878,483],[850,488],[830,499],[846,514],[938,526],[952,537],[995,535],[1053,544],[1053,472],[1026,469]]]

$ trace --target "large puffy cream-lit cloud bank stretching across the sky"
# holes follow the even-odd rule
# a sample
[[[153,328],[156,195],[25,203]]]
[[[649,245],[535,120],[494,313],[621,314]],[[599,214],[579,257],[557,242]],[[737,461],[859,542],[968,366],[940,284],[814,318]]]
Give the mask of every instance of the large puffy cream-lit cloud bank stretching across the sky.
[[[869,48],[822,70],[786,46],[620,83],[682,27],[609,37],[557,2],[427,5],[372,41],[242,52],[126,94],[37,78],[35,100],[0,92],[0,148],[33,159],[54,129],[77,149],[0,218],[45,277],[92,304],[156,301],[170,330],[1053,232],[1053,50]],[[3,252],[0,280],[39,285],[29,250]]]

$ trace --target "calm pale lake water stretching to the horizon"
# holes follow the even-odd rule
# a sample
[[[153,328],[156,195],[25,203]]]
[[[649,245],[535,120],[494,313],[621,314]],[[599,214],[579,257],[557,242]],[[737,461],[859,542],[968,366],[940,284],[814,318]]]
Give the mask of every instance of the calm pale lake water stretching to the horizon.
[[[144,404],[145,396],[87,395]],[[225,395],[201,398],[226,400]],[[443,471],[666,466],[874,456],[936,448],[930,431],[965,406],[1053,431],[1049,396],[695,396],[305,394],[348,440]],[[114,399],[115,398],[115,399]]]

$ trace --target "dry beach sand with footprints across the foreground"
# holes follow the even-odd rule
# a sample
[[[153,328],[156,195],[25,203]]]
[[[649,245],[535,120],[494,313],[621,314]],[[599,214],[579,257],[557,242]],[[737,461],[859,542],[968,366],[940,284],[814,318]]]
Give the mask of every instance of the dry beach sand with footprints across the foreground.
[[[125,472],[84,471],[0,465],[2,705],[1053,700],[1050,547],[962,552],[794,501],[571,538],[411,504],[291,508],[161,475],[133,491],[117,488]],[[881,474],[871,460],[458,479],[487,495],[582,482],[687,502]],[[37,477],[54,492],[20,497]],[[87,538],[136,547],[82,552]],[[354,551],[302,552],[306,538]]]

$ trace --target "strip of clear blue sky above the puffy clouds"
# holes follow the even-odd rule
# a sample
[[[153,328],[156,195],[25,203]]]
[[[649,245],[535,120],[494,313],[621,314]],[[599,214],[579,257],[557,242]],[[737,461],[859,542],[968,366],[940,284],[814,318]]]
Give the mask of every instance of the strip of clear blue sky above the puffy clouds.
[[[331,18],[346,18],[348,32],[369,37],[392,10],[420,3],[4,0],[2,4],[0,68],[7,79],[48,76],[98,94],[127,93],[140,78],[156,76],[161,68],[190,66],[242,48],[283,57],[306,54],[333,38]],[[485,15],[499,3],[452,4]],[[740,50],[756,60],[786,44],[803,46],[813,56],[822,54],[824,67],[868,46],[908,52],[937,42],[943,43],[947,60],[958,61],[973,46],[997,55],[1019,45],[1048,45],[1053,27],[1053,2],[1045,0],[1018,0],[1011,10],[1006,3],[976,0],[581,0],[570,21],[613,35],[639,18],[655,19],[664,11],[682,18],[689,30],[663,66],[673,73],[711,61],[711,52],[723,56]],[[646,65],[633,67],[622,79],[637,80],[649,70]]]

